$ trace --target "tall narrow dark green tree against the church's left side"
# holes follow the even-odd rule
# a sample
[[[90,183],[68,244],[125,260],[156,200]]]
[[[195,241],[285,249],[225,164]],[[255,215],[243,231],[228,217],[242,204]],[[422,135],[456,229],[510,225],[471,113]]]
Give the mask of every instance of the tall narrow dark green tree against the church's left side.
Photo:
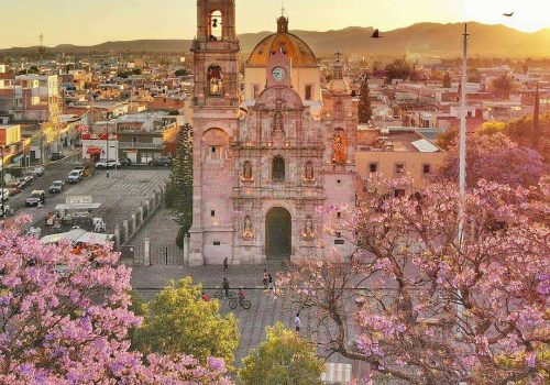
[[[193,127],[189,123],[178,133],[170,189],[172,209],[182,226],[180,232],[187,234],[193,224]]]

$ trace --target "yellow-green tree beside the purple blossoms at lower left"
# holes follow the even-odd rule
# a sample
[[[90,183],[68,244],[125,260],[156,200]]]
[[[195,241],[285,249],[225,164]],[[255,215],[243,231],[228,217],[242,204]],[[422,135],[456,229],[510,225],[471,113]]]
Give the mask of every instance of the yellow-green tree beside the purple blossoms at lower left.
[[[143,306],[143,324],[133,336],[141,352],[190,354],[201,363],[209,356],[234,360],[239,328],[232,314],[222,316],[218,300],[204,301],[202,287],[186,277],[172,280],[150,304]]]

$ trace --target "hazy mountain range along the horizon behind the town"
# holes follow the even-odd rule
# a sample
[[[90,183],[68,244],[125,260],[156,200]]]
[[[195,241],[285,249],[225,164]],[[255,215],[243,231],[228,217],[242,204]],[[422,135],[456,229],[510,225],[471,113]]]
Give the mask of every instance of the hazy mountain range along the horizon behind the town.
[[[417,23],[406,28],[383,31],[384,38],[371,38],[372,26],[350,26],[326,32],[294,30],[317,55],[340,51],[355,55],[431,55],[458,56],[461,53],[462,23]],[[250,53],[254,46],[273,32],[244,33],[239,35],[242,52]],[[505,25],[469,23],[470,53],[483,56],[550,56],[550,29],[527,33]],[[48,53],[186,53],[191,40],[136,40],[106,42],[90,46],[61,44],[46,47]],[[13,47],[0,50],[0,55],[35,54],[37,47]]]

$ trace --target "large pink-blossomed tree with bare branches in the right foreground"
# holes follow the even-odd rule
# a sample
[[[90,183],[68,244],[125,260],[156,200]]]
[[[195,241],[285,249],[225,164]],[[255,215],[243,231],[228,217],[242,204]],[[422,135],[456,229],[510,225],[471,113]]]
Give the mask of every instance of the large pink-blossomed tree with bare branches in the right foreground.
[[[398,198],[380,194],[405,179],[376,175],[369,186],[359,207],[323,212],[329,234],[355,251],[278,276],[277,295],[316,316],[323,354],[409,384],[547,383],[549,227],[532,210],[548,205],[483,180],[464,199],[449,183]]]

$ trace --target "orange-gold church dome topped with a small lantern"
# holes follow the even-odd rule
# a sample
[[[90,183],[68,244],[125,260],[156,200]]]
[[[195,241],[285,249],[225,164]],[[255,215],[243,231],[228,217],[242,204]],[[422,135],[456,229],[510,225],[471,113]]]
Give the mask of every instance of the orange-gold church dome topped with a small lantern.
[[[261,41],[249,57],[249,65],[266,67],[273,52],[283,51],[292,59],[293,67],[317,66],[311,48],[298,36],[288,33],[288,19],[277,20],[277,33]]]

